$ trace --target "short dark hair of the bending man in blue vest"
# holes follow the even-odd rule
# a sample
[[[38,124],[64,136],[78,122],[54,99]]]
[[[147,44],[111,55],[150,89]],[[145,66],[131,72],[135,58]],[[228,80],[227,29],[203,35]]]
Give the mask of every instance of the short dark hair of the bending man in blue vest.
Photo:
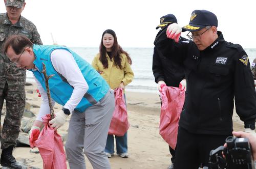
[[[24,35],[12,35],[6,40],[3,47],[3,53],[6,53],[10,46],[16,54],[19,54],[25,47],[33,47],[33,43]]]

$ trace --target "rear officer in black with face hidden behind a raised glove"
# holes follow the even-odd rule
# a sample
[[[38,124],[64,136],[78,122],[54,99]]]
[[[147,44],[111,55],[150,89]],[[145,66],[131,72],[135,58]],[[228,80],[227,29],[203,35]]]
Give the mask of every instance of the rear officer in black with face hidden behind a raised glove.
[[[177,19],[173,14],[167,14],[160,18],[160,24],[156,29],[161,28],[158,32],[154,42],[154,54],[153,54],[153,74],[155,76],[155,82],[158,83],[158,90],[161,90],[161,85],[179,87],[181,83],[182,88],[186,86],[186,80],[184,68],[182,66],[182,60],[173,47],[175,42],[172,39],[166,37],[166,29],[169,24],[177,23]],[[185,38],[177,39],[177,41],[187,40]],[[168,166],[168,169],[173,168],[175,150],[169,146],[172,164]]]

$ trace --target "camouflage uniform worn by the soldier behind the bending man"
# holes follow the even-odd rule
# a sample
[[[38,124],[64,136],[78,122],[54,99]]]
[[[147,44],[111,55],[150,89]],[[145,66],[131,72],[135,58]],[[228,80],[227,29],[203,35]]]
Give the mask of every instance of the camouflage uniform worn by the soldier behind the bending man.
[[[12,24],[7,13],[0,14],[0,109],[2,111],[6,100],[6,117],[4,120],[1,142],[2,149],[16,146],[20,122],[25,108],[26,70],[16,67],[8,57],[2,53],[3,44],[11,35],[25,35],[33,43],[42,44],[36,26],[28,19],[20,16],[19,21]]]

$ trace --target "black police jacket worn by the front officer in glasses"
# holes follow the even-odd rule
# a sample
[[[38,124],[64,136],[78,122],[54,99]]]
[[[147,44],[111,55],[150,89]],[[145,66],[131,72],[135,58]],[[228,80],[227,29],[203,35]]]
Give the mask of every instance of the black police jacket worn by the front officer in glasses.
[[[256,94],[246,52],[219,38],[199,51],[194,42],[179,43],[187,91],[179,125],[199,134],[231,134],[234,101],[240,119],[253,128]],[[246,127],[247,128],[247,127]]]

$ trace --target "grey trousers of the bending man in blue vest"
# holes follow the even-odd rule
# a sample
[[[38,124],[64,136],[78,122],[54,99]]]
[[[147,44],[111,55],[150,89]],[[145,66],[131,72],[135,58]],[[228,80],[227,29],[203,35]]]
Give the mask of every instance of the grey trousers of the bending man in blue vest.
[[[114,91],[109,90],[84,113],[72,113],[65,146],[71,169],[86,168],[83,150],[93,168],[111,168],[104,149],[114,109]]]

